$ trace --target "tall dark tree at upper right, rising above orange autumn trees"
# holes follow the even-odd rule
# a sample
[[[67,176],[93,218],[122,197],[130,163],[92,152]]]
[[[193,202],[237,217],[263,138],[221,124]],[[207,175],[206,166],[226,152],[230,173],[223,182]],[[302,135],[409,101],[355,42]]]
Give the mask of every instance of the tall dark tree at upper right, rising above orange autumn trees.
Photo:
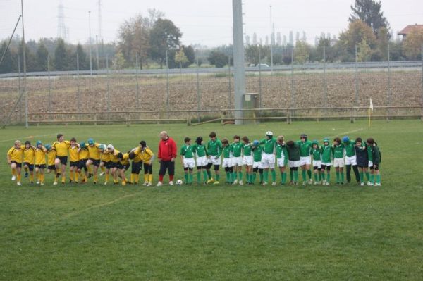
[[[353,13],[350,14],[350,23],[356,20],[362,20],[372,28],[374,34],[379,34],[379,28],[386,27],[389,29],[388,20],[381,11],[381,1],[374,0],[355,0],[354,6],[351,6]]]

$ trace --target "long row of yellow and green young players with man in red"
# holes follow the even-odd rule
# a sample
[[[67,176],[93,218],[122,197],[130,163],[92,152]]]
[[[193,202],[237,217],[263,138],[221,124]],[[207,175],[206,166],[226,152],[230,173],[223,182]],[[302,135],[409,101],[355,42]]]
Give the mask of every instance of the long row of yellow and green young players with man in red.
[[[68,141],[59,134],[52,144],[43,144],[39,140],[35,146],[29,141],[22,145],[17,140],[7,152],[7,161],[11,166],[12,180],[16,180],[17,185],[22,185],[22,168],[31,184],[35,182],[37,185],[44,185],[45,174],[50,173],[54,177],[53,185],[57,185],[59,181],[66,184],[69,159],[69,183],[85,183],[92,177],[92,182],[97,184],[99,176],[104,176],[104,185],[109,182],[114,185],[119,182],[121,185],[137,185],[143,169],[142,185],[152,186],[153,163],[157,157],[159,180],[156,185],[161,186],[164,184],[166,171],[168,184],[174,185],[177,151],[176,142],[165,131],[160,133],[157,156],[145,141],[141,141],[133,149],[121,152],[113,144],[99,144],[92,138],[87,143],[78,143],[75,137]],[[336,171],[336,185],[345,183],[344,168],[346,183],[352,181],[353,170],[358,185],[364,186],[366,182],[367,185],[381,185],[381,152],[372,137],[364,142],[361,137],[355,140],[348,136],[342,139],[336,137],[332,144],[329,138],[324,138],[320,145],[317,140],[310,141],[305,134],[300,135],[298,141],[285,141],[282,135],[274,137],[273,132],[268,131],[261,140],[250,142],[247,136],[235,135],[233,142],[230,142],[227,138],[219,139],[215,132],[211,132],[207,143],[202,137],[197,137],[192,144],[192,139],[185,137],[179,154],[185,182],[177,180],[177,185],[192,185],[195,168],[197,184],[221,184],[219,171],[223,168],[227,185],[298,185],[299,169],[302,173],[302,185],[330,185],[331,166]],[[280,173],[278,183],[275,168]],[[289,168],[289,182],[286,168]],[[128,170],[129,178],[126,177]]]

